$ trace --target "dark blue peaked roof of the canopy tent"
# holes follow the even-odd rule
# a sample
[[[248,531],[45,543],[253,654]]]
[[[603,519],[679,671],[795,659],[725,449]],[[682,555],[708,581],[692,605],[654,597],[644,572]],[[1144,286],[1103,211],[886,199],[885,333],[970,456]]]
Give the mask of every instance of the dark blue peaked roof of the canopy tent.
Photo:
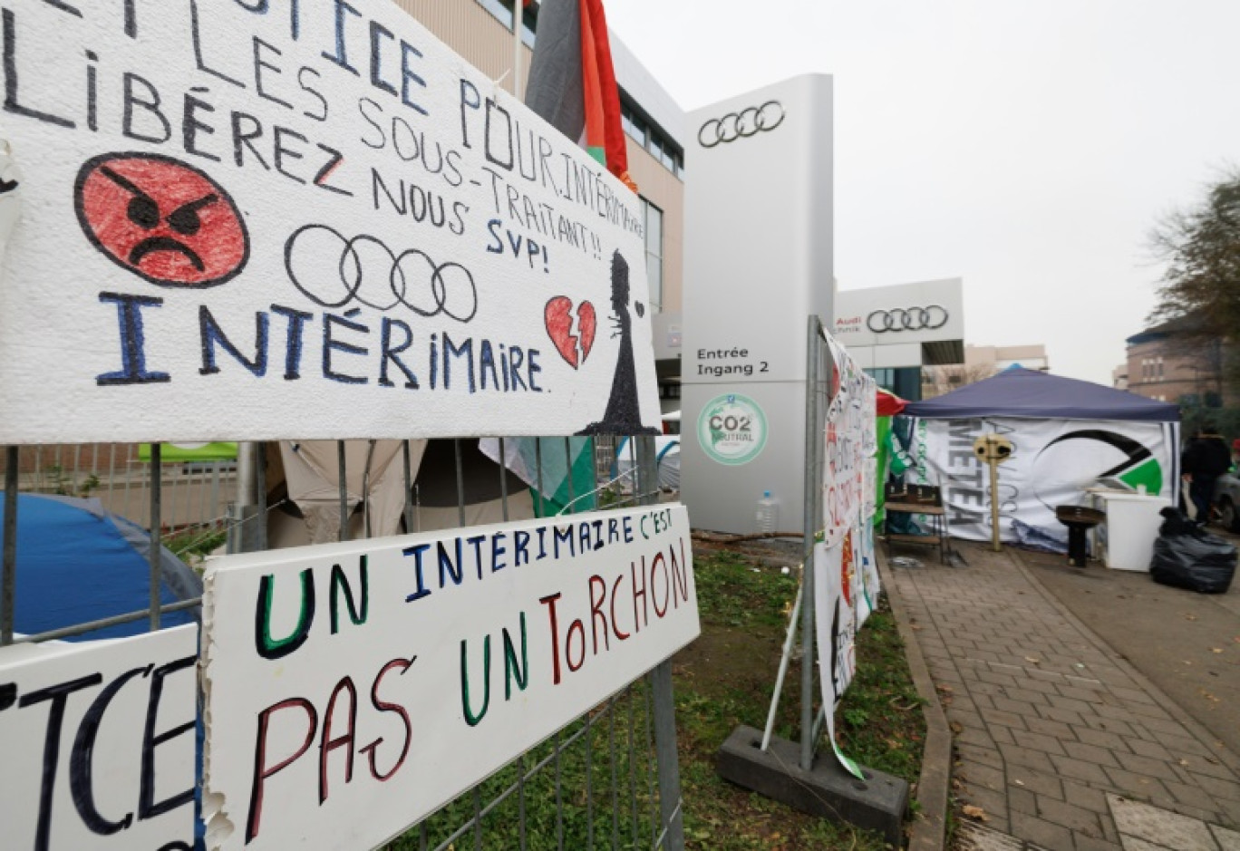
[[[1012,367],[925,402],[910,402],[905,417],[968,419],[1023,417],[1027,419],[1128,419],[1179,422],[1179,407],[1089,381],[1061,378]]]

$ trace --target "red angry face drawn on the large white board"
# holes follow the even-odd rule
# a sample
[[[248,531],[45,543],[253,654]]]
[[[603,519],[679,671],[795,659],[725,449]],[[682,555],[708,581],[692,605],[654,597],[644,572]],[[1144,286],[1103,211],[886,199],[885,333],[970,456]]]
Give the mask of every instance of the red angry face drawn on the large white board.
[[[228,194],[159,154],[104,154],[78,171],[82,232],[113,263],[161,287],[215,287],[249,259],[246,221]]]

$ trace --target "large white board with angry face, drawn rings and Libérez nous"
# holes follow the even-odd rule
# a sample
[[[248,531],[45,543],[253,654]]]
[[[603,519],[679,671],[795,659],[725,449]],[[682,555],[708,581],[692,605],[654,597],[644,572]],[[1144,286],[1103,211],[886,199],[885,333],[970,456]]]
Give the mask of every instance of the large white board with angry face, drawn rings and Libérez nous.
[[[0,442],[657,428],[640,198],[396,4],[0,26]]]

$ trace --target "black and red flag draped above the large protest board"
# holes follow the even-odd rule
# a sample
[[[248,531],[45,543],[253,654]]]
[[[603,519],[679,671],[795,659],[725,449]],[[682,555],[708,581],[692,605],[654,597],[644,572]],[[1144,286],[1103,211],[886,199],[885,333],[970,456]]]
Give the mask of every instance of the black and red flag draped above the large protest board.
[[[634,192],[603,0],[544,0],[526,105]]]

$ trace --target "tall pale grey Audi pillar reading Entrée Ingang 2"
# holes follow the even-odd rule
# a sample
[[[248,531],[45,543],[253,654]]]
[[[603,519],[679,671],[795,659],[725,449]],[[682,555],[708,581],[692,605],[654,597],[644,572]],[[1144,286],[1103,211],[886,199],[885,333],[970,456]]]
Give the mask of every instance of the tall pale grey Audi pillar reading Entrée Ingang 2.
[[[805,505],[806,323],[830,321],[832,79],[808,74],[706,107],[684,189],[681,497],[696,526],[779,531]]]

